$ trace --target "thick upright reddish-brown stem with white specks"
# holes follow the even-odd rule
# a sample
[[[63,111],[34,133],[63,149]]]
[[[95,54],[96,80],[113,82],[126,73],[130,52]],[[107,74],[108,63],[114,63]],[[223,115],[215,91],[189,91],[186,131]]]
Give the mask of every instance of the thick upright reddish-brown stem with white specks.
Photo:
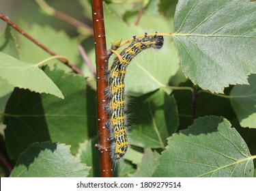
[[[108,69],[106,55],[106,38],[104,29],[104,16],[102,0],[92,0],[92,20],[94,25],[94,44],[96,53],[97,76],[97,108],[98,108],[98,150],[100,153],[100,174],[102,177],[112,177],[109,131],[106,129],[108,114],[105,111],[107,104],[104,89],[107,87],[105,71]]]

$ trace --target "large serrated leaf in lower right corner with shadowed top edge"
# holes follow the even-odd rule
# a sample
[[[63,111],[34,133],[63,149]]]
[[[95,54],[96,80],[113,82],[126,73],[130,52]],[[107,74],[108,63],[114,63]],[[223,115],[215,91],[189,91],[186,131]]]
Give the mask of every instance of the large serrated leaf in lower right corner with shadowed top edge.
[[[203,117],[168,138],[154,177],[253,177],[253,158],[223,117]]]

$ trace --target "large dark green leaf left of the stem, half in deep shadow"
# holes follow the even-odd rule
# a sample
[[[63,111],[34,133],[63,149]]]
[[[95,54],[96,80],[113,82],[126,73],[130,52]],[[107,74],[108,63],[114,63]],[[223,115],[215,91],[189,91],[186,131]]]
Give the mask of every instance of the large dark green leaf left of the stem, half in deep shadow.
[[[58,69],[46,68],[44,72],[58,85],[65,99],[14,90],[4,113],[5,139],[11,158],[18,158],[29,145],[42,141],[70,144],[75,153],[87,136],[87,128],[96,127],[95,114],[87,114],[87,102],[92,101],[85,99],[85,79]]]

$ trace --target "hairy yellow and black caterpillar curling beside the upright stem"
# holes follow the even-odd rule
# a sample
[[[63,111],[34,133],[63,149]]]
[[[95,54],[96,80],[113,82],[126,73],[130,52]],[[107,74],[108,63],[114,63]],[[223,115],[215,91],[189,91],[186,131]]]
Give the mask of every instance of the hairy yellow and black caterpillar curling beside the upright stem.
[[[142,50],[147,48],[162,48],[164,38],[162,35],[153,37],[147,36],[145,33],[144,38],[138,39],[133,36],[132,42],[127,48],[124,48],[120,53],[122,61],[116,57],[113,65],[107,72],[107,79],[109,86],[105,89],[106,97],[109,98],[109,104],[106,106],[106,111],[109,114],[109,121],[106,127],[111,134],[111,159],[119,160],[124,156],[128,149],[127,138],[127,123],[126,123],[126,100],[124,98],[124,78],[126,75],[126,67],[130,61],[141,53]]]

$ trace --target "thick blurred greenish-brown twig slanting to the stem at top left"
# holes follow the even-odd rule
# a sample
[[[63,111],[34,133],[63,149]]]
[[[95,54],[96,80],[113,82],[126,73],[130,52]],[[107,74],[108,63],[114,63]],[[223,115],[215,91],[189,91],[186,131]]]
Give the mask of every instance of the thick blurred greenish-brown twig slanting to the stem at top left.
[[[89,27],[85,23],[82,23],[81,21],[76,20],[75,18],[72,18],[67,14],[63,14],[62,12],[55,10],[54,8],[49,6],[44,0],[35,0],[35,1],[38,3],[38,5],[40,5],[42,10],[44,10],[44,12],[46,12],[47,14],[55,16],[59,20],[62,20],[63,22],[68,23],[69,25],[72,25],[76,28],[83,29],[86,33],[89,33],[89,35],[94,35],[93,29],[91,29],[91,27]]]

